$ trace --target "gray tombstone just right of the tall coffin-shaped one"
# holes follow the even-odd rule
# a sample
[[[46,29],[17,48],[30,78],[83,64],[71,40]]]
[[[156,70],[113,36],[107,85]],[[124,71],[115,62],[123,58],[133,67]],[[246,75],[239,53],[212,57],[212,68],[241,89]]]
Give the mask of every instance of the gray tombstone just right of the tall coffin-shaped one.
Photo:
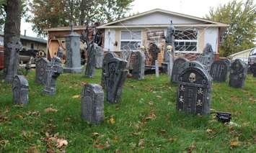
[[[144,79],[144,69],[145,69],[145,54],[141,51],[134,51],[134,58],[133,58],[133,71],[132,75],[133,78],[142,80]]]

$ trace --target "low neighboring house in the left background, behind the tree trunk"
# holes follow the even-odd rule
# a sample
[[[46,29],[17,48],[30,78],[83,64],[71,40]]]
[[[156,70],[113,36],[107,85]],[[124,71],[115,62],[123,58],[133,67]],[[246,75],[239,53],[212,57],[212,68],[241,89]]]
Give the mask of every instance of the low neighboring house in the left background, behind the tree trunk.
[[[43,50],[46,51],[47,41],[37,38],[20,35],[20,41],[22,42],[25,50]],[[4,32],[0,32],[0,46],[4,46]]]

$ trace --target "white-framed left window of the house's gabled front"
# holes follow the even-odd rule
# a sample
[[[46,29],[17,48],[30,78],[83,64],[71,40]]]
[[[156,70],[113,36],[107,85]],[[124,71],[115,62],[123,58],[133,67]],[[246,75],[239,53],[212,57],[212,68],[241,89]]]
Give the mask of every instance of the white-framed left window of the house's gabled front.
[[[139,50],[141,31],[121,31],[120,50]]]

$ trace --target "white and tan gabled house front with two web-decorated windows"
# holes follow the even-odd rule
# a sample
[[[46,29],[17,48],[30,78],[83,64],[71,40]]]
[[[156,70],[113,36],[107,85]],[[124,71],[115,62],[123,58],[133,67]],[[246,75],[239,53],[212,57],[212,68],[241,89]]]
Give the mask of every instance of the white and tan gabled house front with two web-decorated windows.
[[[219,57],[221,34],[228,25],[208,19],[153,9],[97,28],[105,29],[105,51],[139,50],[141,45],[148,48],[150,42],[154,42],[160,48],[171,20],[176,29],[176,55],[193,55],[195,59],[209,43],[214,54]]]

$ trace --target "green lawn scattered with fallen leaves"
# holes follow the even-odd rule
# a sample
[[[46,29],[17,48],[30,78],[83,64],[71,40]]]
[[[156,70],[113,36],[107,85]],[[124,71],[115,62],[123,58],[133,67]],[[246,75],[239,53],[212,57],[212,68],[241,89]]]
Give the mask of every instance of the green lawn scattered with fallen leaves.
[[[176,111],[177,85],[167,75],[146,75],[145,80],[128,78],[118,104],[105,101],[105,120],[90,125],[80,117],[81,84],[100,83],[81,74],[58,78],[56,96],[43,96],[43,85],[27,75],[29,104],[14,106],[11,85],[0,83],[0,152],[55,150],[45,140],[46,132],[58,133],[69,144],[66,152],[256,152],[256,78],[248,75],[245,87],[213,83],[211,108],[229,111],[239,126],[226,126],[213,115],[193,116]],[[58,112],[46,113],[45,108]],[[114,119],[115,123],[111,123]],[[95,134],[98,133],[98,134]],[[237,139],[238,145],[231,146]],[[104,148],[104,149],[100,149]]]

